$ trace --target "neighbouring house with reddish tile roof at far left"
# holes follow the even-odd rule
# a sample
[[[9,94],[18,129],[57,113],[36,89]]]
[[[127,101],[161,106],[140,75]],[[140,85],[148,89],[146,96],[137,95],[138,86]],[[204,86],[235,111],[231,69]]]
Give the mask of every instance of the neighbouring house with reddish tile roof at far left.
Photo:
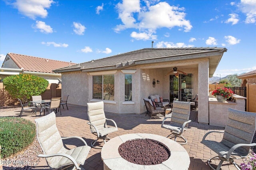
[[[61,74],[54,73],[52,70],[74,64],[76,63],[8,53],[4,59],[2,68],[0,68],[0,78],[3,79],[6,76],[22,73],[43,77],[49,83],[58,83],[58,78],[61,79]]]

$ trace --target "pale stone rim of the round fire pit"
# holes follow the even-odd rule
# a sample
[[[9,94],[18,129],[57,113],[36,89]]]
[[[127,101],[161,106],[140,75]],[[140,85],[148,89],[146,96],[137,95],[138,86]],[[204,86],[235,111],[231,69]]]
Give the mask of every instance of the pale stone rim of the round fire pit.
[[[170,154],[170,157],[164,162],[152,165],[141,165],[128,162],[118,152],[120,145],[126,141],[134,139],[150,139],[160,145],[163,145]],[[139,143],[136,143],[140,145]],[[139,153],[138,153],[139,154]],[[120,170],[120,169],[163,169],[163,170],[187,170],[190,164],[188,152],[178,143],[159,135],[148,133],[134,133],[114,137],[104,144],[101,151],[101,158],[104,163],[104,170]]]

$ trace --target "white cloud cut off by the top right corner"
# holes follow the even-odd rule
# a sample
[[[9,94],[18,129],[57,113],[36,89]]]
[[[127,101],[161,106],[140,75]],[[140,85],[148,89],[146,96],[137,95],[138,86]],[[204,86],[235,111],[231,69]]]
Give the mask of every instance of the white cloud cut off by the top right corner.
[[[241,3],[238,4],[238,8],[246,14],[245,23],[256,22],[256,0],[241,0]]]

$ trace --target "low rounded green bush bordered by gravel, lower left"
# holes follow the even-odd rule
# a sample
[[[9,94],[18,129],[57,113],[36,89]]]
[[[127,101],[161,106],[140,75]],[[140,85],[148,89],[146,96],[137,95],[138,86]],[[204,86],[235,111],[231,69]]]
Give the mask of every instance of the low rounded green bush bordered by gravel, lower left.
[[[0,117],[1,157],[7,158],[28,147],[36,136],[36,125],[19,117]]]

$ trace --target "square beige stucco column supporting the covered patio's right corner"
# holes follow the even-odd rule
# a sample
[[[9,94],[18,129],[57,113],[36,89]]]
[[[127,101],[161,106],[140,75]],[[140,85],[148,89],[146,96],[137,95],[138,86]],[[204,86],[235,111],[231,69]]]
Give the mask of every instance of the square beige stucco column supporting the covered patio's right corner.
[[[198,123],[209,123],[209,60],[198,63]]]

